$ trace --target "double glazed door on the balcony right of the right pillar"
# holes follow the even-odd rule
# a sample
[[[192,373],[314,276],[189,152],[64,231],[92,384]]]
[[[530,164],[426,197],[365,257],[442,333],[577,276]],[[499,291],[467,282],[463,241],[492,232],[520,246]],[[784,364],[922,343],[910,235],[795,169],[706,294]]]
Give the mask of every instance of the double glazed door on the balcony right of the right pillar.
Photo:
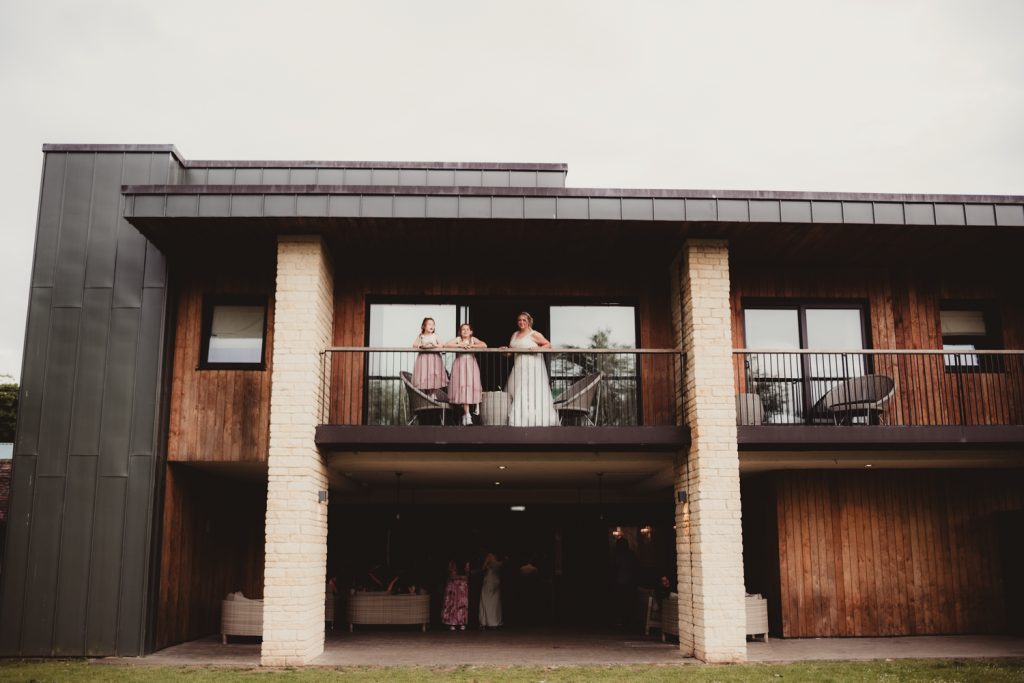
[[[746,386],[760,396],[767,422],[811,420],[811,407],[829,389],[868,373],[863,354],[843,352],[866,348],[860,304],[749,304],[743,321],[749,349],[777,351],[750,353],[745,364]]]

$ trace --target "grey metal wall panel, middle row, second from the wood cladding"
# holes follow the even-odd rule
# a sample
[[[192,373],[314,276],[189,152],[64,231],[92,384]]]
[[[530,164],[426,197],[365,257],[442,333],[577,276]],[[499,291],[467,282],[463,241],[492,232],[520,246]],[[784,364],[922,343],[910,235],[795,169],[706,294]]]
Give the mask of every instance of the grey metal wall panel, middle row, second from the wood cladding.
[[[132,425],[132,390],[139,309],[111,311],[111,337],[103,377],[103,422],[99,432],[99,476],[128,476],[128,439]]]

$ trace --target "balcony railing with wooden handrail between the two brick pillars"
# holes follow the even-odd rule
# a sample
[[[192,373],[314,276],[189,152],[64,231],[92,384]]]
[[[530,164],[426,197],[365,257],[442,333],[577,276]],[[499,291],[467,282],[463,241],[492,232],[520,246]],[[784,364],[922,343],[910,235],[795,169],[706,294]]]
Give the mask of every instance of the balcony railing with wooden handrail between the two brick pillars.
[[[461,425],[475,396],[457,385],[472,389],[478,371],[474,425],[677,426],[683,359],[673,349],[333,347],[321,423]]]

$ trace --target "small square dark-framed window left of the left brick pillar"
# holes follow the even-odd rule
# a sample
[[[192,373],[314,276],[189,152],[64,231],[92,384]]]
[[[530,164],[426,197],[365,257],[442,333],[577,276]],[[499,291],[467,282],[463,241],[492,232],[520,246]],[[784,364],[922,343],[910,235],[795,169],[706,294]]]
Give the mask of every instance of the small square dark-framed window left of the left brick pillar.
[[[266,297],[208,298],[203,315],[204,370],[263,370]]]

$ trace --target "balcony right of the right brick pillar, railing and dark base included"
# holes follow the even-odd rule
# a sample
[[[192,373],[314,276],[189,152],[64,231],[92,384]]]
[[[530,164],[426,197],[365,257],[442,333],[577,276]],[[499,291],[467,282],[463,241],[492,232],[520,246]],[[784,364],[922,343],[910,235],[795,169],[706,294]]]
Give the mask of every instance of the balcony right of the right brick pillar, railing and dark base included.
[[[1024,443],[1024,351],[733,352],[740,447]]]

